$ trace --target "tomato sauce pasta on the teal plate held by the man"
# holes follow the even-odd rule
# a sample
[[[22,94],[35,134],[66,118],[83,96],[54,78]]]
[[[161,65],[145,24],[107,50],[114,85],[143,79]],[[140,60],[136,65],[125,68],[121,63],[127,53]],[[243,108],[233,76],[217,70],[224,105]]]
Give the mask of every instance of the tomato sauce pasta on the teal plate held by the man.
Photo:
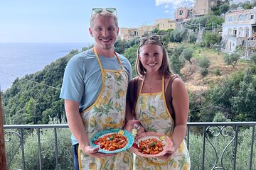
[[[105,149],[108,151],[122,149],[128,143],[127,137],[117,133],[112,133],[103,137],[99,137],[97,141],[100,142],[101,149]]]

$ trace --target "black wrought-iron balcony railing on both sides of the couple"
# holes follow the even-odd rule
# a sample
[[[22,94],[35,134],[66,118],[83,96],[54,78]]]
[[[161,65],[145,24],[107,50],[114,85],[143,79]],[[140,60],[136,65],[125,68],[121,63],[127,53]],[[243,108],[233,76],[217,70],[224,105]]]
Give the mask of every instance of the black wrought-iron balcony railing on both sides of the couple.
[[[193,127],[193,128],[192,128]],[[225,160],[227,157],[225,155],[228,155],[228,158],[230,157],[230,164],[232,163],[232,168],[236,169],[237,159],[239,158],[237,156],[238,154],[238,145],[240,143],[238,135],[240,134],[240,129],[245,128],[252,128],[251,138],[250,138],[250,146],[248,145],[248,152],[250,157],[247,158],[247,165],[246,169],[255,169],[255,163],[252,162],[252,160],[255,159],[255,152],[254,151],[254,145],[255,145],[255,127],[256,122],[193,122],[193,123],[187,123],[187,135],[186,135],[186,143],[188,152],[195,152],[194,144],[195,140],[193,140],[193,136],[190,139],[191,135],[193,135],[193,130],[197,129],[200,131],[198,135],[202,138],[200,145],[201,149],[196,150],[197,157],[197,169],[226,169]],[[53,129],[54,132],[54,149],[53,152],[55,152],[55,166],[56,169],[59,169],[59,160],[58,160],[58,140],[57,140],[57,130],[68,128],[68,124],[50,124],[50,125],[4,125],[5,134],[11,133],[12,135],[18,135],[18,139],[21,141],[21,144],[18,149],[21,150],[22,154],[22,169],[26,169],[26,162],[25,162],[25,154],[24,154],[24,141],[23,141],[23,131],[31,129],[33,132],[35,132],[35,135],[37,135],[37,142],[38,142],[38,166],[39,169],[42,169],[43,166],[45,166],[46,163],[43,164],[42,162],[42,155],[41,155],[41,142],[43,140],[41,139],[41,132],[43,132],[43,129]],[[12,131],[16,130],[16,131]],[[17,131],[18,130],[18,131]],[[41,131],[42,130],[42,131]],[[69,138],[69,137],[68,137]],[[221,140],[225,139],[222,147],[220,148],[214,140]],[[8,142],[6,140],[6,142]],[[211,158],[209,157],[209,149]],[[232,153],[230,153],[230,149],[232,150]],[[16,153],[16,152],[15,152]],[[239,155],[239,154],[238,154]],[[212,160],[212,164],[210,166],[208,165],[208,159]],[[195,161],[195,160],[194,160]],[[192,162],[191,162],[192,164]],[[9,166],[7,164],[7,166]]]

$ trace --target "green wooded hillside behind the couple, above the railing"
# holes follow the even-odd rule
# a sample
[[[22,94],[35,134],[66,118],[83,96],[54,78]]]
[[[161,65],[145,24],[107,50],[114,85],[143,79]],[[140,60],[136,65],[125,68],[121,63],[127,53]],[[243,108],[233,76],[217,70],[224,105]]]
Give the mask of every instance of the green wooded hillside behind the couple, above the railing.
[[[215,115],[223,115],[222,121],[256,120],[254,62],[238,60],[233,67],[226,64],[225,54],[214,48],[169,42],[166,37],[164,41],[168,44],[171,68],[181,75],[190,94],[190,121],[213,121]],[[118,40],[115,45],[116,51],[127,57],[133,69],[137,45],[136,39],[132,42]],[[44,124],[49,118],[65,118],[60,88],[65,66],[78,52],[73,50],[43,70],[16,79],[2,96],[4,123]],[[133,70],[133,77],[135,74]]]

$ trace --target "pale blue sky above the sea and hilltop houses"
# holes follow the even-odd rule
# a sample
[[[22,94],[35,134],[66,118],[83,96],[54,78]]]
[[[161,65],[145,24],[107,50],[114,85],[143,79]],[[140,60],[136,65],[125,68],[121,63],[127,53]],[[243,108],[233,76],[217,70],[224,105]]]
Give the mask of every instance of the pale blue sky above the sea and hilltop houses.
[[[117,8],[119,28],[152,26],[174,18],[195,0],[0,0],[0,42],[93,42],[91,9]]]

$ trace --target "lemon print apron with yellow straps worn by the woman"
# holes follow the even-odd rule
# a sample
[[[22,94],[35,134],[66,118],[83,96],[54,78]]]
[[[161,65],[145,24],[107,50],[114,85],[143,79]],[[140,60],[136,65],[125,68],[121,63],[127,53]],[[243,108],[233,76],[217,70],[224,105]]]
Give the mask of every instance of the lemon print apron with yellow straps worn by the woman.
[[[143,87],[144,81],[142,82]],[[139,91],[135,108],[136,117],[147,132],[159,132],[171,137],[174,131],[174,119],[169,113],[164,96],[164,77],[162,90],[154,94],[142,94]],[[171,159],[164,161],[157,158],[136,157],[135,168],[139,169],[190,169],[190,158],[183,140]]]

